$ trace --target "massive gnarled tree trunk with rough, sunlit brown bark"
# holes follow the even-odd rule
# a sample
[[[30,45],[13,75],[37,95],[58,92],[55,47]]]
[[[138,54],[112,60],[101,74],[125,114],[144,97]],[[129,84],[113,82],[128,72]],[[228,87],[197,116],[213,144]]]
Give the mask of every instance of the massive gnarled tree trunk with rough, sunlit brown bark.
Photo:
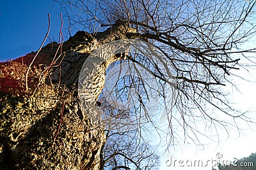
[[[77,81],[88,55],[127,31],[118,21],[98,34],[77,32],[61,53],[57,43],[46,45],[29,71],[28,91],[24,75],[35,52],[0,63],[1,169],[100,169],[104,130],[81,111]]]

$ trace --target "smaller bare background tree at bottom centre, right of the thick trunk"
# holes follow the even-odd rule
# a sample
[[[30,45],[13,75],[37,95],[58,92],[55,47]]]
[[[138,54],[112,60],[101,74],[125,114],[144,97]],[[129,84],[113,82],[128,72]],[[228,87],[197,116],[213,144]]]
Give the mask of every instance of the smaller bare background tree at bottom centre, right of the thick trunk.
[[[100,169],[154,169],[159,166],[156,148],[138,139],[136,131],[108,131],[106,138],[108,142],[102,147]]]

